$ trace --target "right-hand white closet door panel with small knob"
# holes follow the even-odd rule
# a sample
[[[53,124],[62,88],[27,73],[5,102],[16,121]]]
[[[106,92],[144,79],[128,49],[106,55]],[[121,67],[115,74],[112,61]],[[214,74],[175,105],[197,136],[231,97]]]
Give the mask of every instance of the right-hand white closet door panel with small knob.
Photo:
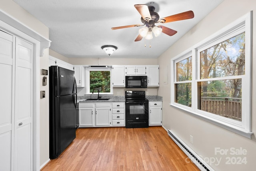
[[[16,38],[14,170],[32,170],[32,44]]]

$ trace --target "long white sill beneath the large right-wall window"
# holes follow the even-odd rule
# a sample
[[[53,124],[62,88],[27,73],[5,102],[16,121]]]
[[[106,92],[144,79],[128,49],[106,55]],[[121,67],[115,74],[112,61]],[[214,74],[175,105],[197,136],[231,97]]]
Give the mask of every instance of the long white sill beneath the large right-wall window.
[[[210,122],[210,123],[212,123],[212,124],[214,124],[214,125],[218,125],[218,126],[220,126],[220,127],[222,127],[222,128],[228,129],[229,131],[232,131],[232,132],[234,132],[234,133],[237,133],[237,134],[239,134],[239,135],[242,135],[242,136],[244,136],[244,137],[246,137],[246,138],[251,139],[251,138],[252,138],[252,134],[254,134],[253,132],[247,131],[247,130],[241,128],[241,127],[237,127],[237,126],[235,126],[235,125],[225,123],[225,122],[220,121],[220,120],[218,120],[218,119],[210,118],[210,117],[208,117],[208,116],[206,116],[206,115],[202,115],[202,114],[199,114],[199,113],[196,113],[196,112],[192,112],[192,111],[190,111],[189,109],[185,109],[185,108],[183,108],[183,107],[180,107],[180,106],[177,106],[177,105],[173,105],[173,104],[169,104],[169,105],[171,105],[171,106],[173,106],[173,107],[176,107],[176,108],[178,108],[178,109],[182,109],[182,110],[184,110],[184,111],[187,111],[187,112],[191,113],[192,115],[194,115],[194,116],[196,116],[196,117],[198,117],[198,118],[200,118],[200,119],[203,119],[203,120],[205,120],[205,121],[208,121],[208,122]]]

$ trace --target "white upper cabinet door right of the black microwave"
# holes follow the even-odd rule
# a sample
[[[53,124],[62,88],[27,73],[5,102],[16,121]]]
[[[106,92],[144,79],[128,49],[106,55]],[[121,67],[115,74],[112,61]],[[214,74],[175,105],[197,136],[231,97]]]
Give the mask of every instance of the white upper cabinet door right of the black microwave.
[[[147,66],[148,86],[159,86],[159,66]]]

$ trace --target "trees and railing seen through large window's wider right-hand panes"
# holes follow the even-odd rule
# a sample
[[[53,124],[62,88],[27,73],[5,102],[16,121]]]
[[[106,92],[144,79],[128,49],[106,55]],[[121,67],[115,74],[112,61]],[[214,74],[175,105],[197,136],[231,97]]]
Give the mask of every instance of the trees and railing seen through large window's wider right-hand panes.
[[[245,33],[201,51],[200,62],[198,109],[241,121]]]

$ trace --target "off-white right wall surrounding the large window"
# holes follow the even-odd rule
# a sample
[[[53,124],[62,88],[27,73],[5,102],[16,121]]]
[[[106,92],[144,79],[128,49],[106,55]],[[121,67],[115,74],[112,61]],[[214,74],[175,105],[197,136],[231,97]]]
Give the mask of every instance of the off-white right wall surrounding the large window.
[[[160,87],[158,95],[163,96],[163,125],[166,129],[171,129],[188,144],[205,161],[208,159],[221,159],[220,163],[212,163],[211,167],[218,171],[241,171],[255,170],[256,139],[245,138],[241,135],[218,127],[208,121],[204,121],[169,105],[170,103],[170,60],[181,54],[193,45],[211,36],[218,30],[227,26],[231,22],[240,18],[244,14],[254,10],[253,30],[256,28],[256,1],[254,0],[224,0],[220,6],[213,10],[208,16],[201,20],[192,30],[172,45],[166,52],[158,58],[160,73],[165,73],[168,68],[168,84],[163,84],[164,75],[160,74]],[[196,14],[195,14],[196,17]],[[253,33],[253,60],[252,60],[252,104],[256,103],[256,35]],[[252,131],[256,133],[256,106],[252,106]],[[194,143],[190,143],[190,135],[194,137]],[[215,155],[215,147],[221,149],[246,149],[246,155]],[[246,157],[247,164],[227,165],[226,157]],[[236,158],[237,159],[237,158]],[[210,164],[210,162],[208,162]]]

